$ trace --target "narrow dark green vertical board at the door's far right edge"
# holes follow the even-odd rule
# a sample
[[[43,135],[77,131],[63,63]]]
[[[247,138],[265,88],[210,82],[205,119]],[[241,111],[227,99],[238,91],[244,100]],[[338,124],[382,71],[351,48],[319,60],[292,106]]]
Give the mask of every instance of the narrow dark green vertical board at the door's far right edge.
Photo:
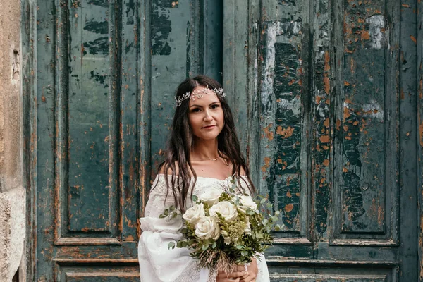
[[[400,8],[398,8],[400,5]],[[419,133],[418,133],[418,109],[419,96],[419,72],[421,66],[417,61],[419,51],[417,49],[417,31],[419,28],[417,12],[418,1],[401,0],[393,1],[391,11],[396,12],[396,19],[400,19],[400,54],[398,61],[400,68],[400,81],[398,87],[397,100],[399,107],[399,130],[398,140],[400,145],[400,154],[398,156],[399,173],[399,201],[400,214],[398,219],[401,223],[398,257],[400,262],[400,281],[419,281],[419,259],[418,251],[418,222],[417,202],[419,197],[418,181],[422,181],[422,174],[417,172],[417,161],[422,155],[418,155]],[[393,44],[398,45],[397,42]],[[420,55],[421,56],[421,55]],[[420,105],[421,106],[421,105]],[[420,151],[421,152],[421,151]],[[421,186],[420,186],[421,187]],[[417,189],[416,189],[417,188]]]

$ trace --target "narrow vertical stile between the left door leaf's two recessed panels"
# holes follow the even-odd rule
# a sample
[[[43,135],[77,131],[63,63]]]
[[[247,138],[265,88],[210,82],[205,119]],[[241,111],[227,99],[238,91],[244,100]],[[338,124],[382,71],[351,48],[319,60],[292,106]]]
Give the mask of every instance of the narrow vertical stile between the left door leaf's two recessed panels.
[[[140,218],[140,202],[137,200],[139,136],[137,117],[139,102],[139,26],[140,2],[125,0],[122,4],[122,30],[119,50],[121,52],[121,123],[120,123],[120,206],[122,240],[137,241],[137,222]]]

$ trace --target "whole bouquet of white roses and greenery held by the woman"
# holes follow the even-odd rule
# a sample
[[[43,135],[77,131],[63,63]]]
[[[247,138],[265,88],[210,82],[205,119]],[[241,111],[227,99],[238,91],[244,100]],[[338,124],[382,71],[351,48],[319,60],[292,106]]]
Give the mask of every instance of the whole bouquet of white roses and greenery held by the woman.
[[[187,247],[201,267],[226,273],[236,264],[251,262],[271,244],[272,229],[278,231],[279,211],[272,214],[272,205],[265,197],[255,200],[235,193],[236,183],[228,192],[209,188],[204,194],[192,196],[194,205],[183,214],[183,238],[169,243],[169,248]],[[177,216],[175,207],[160,217]]]

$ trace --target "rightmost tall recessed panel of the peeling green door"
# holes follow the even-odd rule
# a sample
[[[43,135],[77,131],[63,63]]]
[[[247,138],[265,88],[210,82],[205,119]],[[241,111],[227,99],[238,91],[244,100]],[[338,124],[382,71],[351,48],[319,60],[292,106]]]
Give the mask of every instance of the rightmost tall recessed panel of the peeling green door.
[[[398,11],[360,3],[335,10],[333,244],[398,240]]]

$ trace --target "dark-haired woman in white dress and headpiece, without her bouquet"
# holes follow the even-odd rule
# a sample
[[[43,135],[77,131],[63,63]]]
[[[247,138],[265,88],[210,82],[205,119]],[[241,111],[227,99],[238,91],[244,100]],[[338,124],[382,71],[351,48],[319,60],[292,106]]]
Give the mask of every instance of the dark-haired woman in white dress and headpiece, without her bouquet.
[[[244,191],[255,192],[245,159],[240,153],[231,109],[219,82],[204,75],[183,81],[176,92],[176,111],[165,160],[159,166],[144,217],[138,245],[141,281],[266,282],[269,273],[264,257],[235,272],[200,269],[186,248],[168,249],[181,238],[182,218],[159,218],[164,209],[176,206],[185,212],[191,196],[210,187],[227,190],[229,179],[238,179]]]

